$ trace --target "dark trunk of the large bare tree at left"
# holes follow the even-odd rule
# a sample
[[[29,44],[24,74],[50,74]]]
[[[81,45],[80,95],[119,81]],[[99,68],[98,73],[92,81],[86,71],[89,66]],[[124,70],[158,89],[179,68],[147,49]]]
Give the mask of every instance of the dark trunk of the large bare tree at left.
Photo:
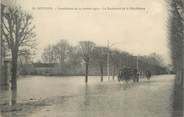
[[[11,89],[17,89],[17,52],[12,51],[12,74],[11,74]]]

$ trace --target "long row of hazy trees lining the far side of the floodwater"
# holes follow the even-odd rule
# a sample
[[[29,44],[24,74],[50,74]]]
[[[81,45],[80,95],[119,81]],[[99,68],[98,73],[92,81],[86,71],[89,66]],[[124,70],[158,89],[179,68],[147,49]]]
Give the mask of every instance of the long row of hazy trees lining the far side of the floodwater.
[[[133,56],[118,49],[97,46],[91,41],[80,41],[77,46],[72,46],[68,41],[60,40],[55,45],[48,45],[42,53],[42,63],[55,65],[54,71],[58,71],[57,73],[49,70],[53,75],[85,74],[86,82],[88,74],[100,75],[103,81],[103,75],[106,75],[108,70],[108,55],[113,78],[123,67],[138,67],[139,71],[150,70],[154,74],[166,73],[163,60],[156,53],[149,56]]]

